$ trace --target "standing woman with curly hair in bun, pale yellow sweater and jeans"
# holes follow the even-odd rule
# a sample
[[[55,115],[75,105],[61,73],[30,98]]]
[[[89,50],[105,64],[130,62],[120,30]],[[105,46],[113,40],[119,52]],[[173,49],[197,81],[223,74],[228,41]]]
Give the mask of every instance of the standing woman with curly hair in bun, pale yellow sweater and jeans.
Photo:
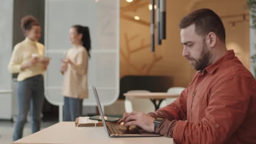
[[[43,74],[49,59],[44,57],[44,45],[39,43],[41,27],[33,16],[21,19],[25,40],[15,45],[8,69],[19,73],[17,80],[18,116],[14,125],[13,141],[22,138],[30,106],[32,133],[40,131],[40,114],[44,102]],[[46,57],[45,57],[46,58]]]

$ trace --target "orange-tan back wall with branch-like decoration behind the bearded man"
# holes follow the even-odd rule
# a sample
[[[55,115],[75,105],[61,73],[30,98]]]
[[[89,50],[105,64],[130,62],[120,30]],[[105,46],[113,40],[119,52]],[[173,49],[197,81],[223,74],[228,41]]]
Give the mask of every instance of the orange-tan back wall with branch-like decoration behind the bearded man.
[[[167,39],[162,41],[162,45],[156,45],[155,53],[151,52],[150,47],[150,27],[120,18],[120,77],[125,75],[165,75],[173,77],[173,86],[187,87],[195,74],[195,70],[182,57],[183,47],[180,42],[180,29],[178,27],[182,17],[198,8],[211,8],[220,16],[248,13],[244,10],[245,0],[235,0],[235,2],[234,0],[202,0],[202,2],[192,6],[187,1],[179,0],[178,3],[178,0],[166,0]],[[150,0],[148,2],[150,3]],[[121,0],[120,5],[121,7],[125,6],[127,2]],[[121,9],[120,12],[129,16],[139,16],[140,20],[150,23],[150,11],[147,5],[136,11],[124,12]],[[240,20],[240,18],[235,19]],[[223,20],[227,33],[227,45],[229,48],[235,49],[245,67],[249,68],[249,24],[248,22],[237,24],[234,30],[232,25],[228,24],[229,20]],[[136,37],[127,43],[125,35],[128,38]],[[141,45],[148,46],[139,51],[131,52]],[[160,60],[152,63],[154,55]]]

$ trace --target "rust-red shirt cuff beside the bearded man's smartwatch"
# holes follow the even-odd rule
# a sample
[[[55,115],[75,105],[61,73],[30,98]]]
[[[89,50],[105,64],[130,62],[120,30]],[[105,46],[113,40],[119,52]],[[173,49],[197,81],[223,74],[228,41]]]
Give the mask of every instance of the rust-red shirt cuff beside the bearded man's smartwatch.
[[[160,125],[157,126],[155,133],[159,133],[162,136],[165,137],[173,137],[173,130],[175,128],[175,125],[177,123],[177,120],[169,121],[167,119],[164,119]]]

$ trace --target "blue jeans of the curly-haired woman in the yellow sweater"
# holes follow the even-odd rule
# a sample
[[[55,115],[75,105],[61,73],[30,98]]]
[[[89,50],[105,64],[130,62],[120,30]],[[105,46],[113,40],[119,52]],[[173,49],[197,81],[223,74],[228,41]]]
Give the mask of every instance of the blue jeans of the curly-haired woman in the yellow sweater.
[[[18,117],[14,125],[13,141],[22,138],[23,128],[27,121],[27,113],[31,114],[32,133],[40,131],[40,114],[44,102],[44,82],[42,75],[29,77],[18,82]]]

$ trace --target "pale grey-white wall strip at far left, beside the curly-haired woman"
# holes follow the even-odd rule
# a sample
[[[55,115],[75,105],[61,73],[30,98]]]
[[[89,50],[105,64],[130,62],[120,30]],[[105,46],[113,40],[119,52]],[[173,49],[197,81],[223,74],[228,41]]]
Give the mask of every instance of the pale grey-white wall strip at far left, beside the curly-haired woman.
[[[0,2],[0,119],[11,119],[11,74],[7,66],[12,52],[13,0]]]

